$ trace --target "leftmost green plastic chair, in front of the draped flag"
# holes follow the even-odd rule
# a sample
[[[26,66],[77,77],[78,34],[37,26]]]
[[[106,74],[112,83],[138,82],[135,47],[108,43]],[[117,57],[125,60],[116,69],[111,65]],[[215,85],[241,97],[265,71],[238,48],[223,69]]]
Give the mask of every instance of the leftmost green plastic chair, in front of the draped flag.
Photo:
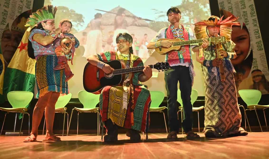
[[[33,99],[33,96],[34,96],[34,94],[32,92],[27,92],[27,91],[8,92],[7,98],[8,98],[8,102],[11,104],[12,108],[0,108],[0,110],[5,111],[6,114],[8,112],[22,113],[22,122],[23,122],[24,114],[28,114],[28,116],[29,116],[29,122],[28,122],[29,135],[30,135],[30,115],[29,115],[29,113],[27,113],[28,109],[26,108],[26,106],[31,102],[31,100]],[[3,130],[4,123],[5,123],[6,114],[4,117],[4,121],[3,121],[0,135],[2,135],[2,130]],[[15,119],[15,126],[16,126],[16,119]],[[15,131],[15,126],[14,126],[14,131]],[[20,133],[21,133],[21,131],[22,131],[22,124],[20,125]],[[19,136],[20,136],[20,133],[19,133]]]

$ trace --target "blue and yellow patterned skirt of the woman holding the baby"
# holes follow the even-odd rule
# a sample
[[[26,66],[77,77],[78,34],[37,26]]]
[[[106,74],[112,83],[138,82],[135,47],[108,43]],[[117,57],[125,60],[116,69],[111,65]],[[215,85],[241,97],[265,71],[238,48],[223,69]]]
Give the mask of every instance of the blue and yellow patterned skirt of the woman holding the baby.
[[[37,95],[39,98],[47,92],[60,92],[61,94],[68,94],[69,89],[67,82],[65,82],[65,72],[62,70],[53,70],[57,65],[56,55],[45,55],[38,57],[36,61],[36,85]]]

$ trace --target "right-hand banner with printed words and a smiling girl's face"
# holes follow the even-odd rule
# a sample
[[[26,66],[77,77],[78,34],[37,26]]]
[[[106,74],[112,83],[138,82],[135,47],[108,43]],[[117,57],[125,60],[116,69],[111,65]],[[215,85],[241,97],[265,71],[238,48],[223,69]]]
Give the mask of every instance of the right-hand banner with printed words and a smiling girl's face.
[[[218,0],[224,18],[239,17],[241,26],[233,26],[232,40],[236,44],[237,57],[232,61],[235,67],[235,83],[240,89],[257,89],[269,93],[269,72],[264,44],[253,0]]]

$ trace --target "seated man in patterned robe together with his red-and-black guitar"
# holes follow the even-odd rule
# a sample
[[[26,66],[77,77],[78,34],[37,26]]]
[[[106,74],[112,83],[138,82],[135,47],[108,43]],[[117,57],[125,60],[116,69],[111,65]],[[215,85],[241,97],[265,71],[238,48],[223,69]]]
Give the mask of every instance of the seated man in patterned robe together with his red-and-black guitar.
[[[104,136],[104,141],[106,142],[118,140],[118,126],[127,128],[126,135],[133,141],[140,141],[140,131],[146,133],[148,131],[149,107],[151,103],[150,92],[143,85],[139,84],[139,81],[145,82],[149,80],[152,76],[152,70],[150,66],[143,66],[142,60],[133,55],[132,42],[131,35],[119,33],[116,37],[118,51],[106,51],[88,57],[87,61],[90,64],[87,65],[89,67],[90,65],[96,67],[87,71],[86,65],[84,69],[83,85],[85,90],[95,94],[101,91],[100,112],[102,122],[108,131],[107,135]],[[120,63],[115,67],[119,67],[119,69],[112,68],[112,63],[111,65],[108,64],[109,62],[117,61],[120,61]],[[90,75],[91,72],[97,73]],[[101,72],[105,72],[105,74]],[[118,74],[120,75],[119,83],[122,86],[94,87],[94,85],[98,85],[100,82],[103,85],[119,84],[116,82],[116,78],[115,80],[112,79],[114,75],[116,77]],[[97,82],[94,83],[93,81]],[[109,84],[108,82],[112,83]]]

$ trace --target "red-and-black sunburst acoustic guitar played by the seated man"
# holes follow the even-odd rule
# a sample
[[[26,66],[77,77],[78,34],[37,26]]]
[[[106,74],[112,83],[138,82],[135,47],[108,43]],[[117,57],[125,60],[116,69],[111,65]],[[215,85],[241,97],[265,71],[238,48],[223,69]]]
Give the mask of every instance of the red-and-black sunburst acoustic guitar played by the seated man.
[[[105,86],[122,85],[125,74],[129,72],[143,71],[144,66],[125,68],[125,64],[119,60],[112,60],[104,62],[114,68],[111,74],[106,74],[102,69],[87,63],[83,72],[83,86],[87,92],[94,94],[100,94]],[[170,68],[169,63],[156,63],[155,65],[149,65],[150,68],[157,70],[166,70]]]

